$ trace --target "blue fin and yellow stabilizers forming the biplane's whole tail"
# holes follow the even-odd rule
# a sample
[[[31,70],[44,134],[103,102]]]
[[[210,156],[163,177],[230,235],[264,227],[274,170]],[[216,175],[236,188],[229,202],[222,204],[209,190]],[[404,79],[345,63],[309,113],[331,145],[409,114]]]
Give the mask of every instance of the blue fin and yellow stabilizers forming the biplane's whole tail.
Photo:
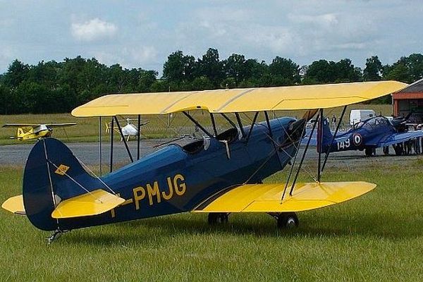
[[[25,213],[39,229],[63,230],[67,219],[102,214],[124,202],[106,192],[105,186],[85,171],[66,145],[45,138],[37,142],[27,159],[23,195],[10,198],[2,207]]]

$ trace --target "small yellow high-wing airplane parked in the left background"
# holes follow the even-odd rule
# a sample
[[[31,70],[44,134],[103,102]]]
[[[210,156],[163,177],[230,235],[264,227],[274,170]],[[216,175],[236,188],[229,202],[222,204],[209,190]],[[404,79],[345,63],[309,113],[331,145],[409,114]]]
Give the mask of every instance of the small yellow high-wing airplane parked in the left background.
[[[76,125],[76,123],[6,123],[4,128],[17,128],[13,139],[19,141],[35,140],[51,136],[53,128]]]

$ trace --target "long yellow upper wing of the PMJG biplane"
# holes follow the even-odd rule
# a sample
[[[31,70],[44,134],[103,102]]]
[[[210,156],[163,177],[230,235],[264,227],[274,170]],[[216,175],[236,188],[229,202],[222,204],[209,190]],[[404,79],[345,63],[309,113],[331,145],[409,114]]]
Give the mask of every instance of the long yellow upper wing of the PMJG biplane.
[[[396,81],[259,87],[192,92],[109,94],[73,109],[73,116],[327,109],[382,97],[406,87]]]

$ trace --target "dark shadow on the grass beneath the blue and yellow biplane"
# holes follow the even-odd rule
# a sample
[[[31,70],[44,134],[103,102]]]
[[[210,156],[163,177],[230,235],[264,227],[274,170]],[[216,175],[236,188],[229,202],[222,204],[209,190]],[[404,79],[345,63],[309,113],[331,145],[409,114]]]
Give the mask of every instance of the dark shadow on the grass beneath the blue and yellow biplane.
[[[245,215],[244,215],[245,216]],[[172,216],[173,217],[173,216]],[[256,217],[257,218],[257,217]],[[198,217],[191,216],[145,219],[142,221],[130,221],[116,223],[113,230],[92,232],[70,233],[64,242],[73,244],[97,244],[97,245],[122,245],[139,243],[142,245],[157,245],[161,240],[177,235],[253,235],[266,238],[342,238],[351,235],[360,235],[363,238],[386,238],[400,240],[416,238],[423,235],[423,219],[404,214],[360,214],[350,219],[347,214],[331,215],[324,214],[314,216],[315,221],[293,230],[279,230],[271,220],[257,218],[259,221],[251,222],[249,217],[244,220],[236,220],[231,223],[223,223],[209,226],[207,222]],[[389,220],[384,220],[389,218]],[[327,222],[331,223],[327,223]],[[338,222],[339,224],[333,224]],[[327,223],[327,224],[325,224]],[[101,227],[100,227],[101,228]],[[145,228],[149,232],[140,232]],[[240,240],[243,240],[241,237]]]

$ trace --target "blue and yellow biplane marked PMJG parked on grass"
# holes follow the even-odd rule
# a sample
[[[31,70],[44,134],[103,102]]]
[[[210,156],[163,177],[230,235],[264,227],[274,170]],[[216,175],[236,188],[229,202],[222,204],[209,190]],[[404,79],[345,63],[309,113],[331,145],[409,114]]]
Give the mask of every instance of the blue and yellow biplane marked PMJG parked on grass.
[[[117,115],[182,113],[204,135],[184,146],[166,145],[104,176],[87,171],[59,140],[43,138],[27,158],[23,195],[2,207],[26,214],[43,231],[54,231],[50,240],[75,228],[180,212],[206,213],[209,223],[228,221],[231,213],[263,212],[273,216],[278,227],[297,226],[296,212],[345,202],[376,187],[363,181],[321,181],[329,152],[324,160],[319,153],[317,178],[299,183],[309,144],[301,157],[298,148],[307,121],[317,116],[313,130],[318,124],[322,136],[324,109],[345,109],[405,86],[379,81],[99,97],[75,108],[73,116],[98,116],[101,123],[101,117]],[[192,116],[197,109],[209,112],[212,132]],[[298,120],[269,118],[269,111],[283,110],[305,114]],[[251,123],[243,123],[243,112],[250,112]],[[258,122],[260,112],[264,121]],[[223,116],[231,128],[218,132],[216,116]],[[288,164],[286,183],[262,183]]]

